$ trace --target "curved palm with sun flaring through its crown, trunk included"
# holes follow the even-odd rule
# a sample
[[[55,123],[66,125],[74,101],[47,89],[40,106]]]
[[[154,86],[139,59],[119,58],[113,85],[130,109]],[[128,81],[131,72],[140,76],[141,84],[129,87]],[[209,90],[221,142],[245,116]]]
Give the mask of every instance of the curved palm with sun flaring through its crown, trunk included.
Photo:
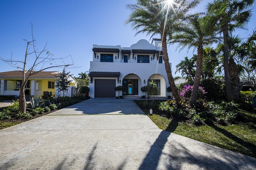
[[[180,96],[175,86],[167,52],[167,37],[172,35],[172,28],[189,10],[194,8],[199,0],[174,0],[171,4],[166,0],[137,0],[136,4],[128,4],[126,7],[132,11],[126,24],[132,23],[133,29],[140,29],[138,33],[146,35],[160,35],[164,65],[168,82],[176,102],[180,102]]]

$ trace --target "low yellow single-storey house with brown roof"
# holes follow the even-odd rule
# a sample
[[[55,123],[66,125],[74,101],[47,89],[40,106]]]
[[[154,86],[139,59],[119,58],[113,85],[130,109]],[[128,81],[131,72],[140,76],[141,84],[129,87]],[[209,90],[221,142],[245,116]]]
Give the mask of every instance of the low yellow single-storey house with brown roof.
[[[44,92],[52,92],[52,96],[63,96],[63,92],[58,92],[55,88],[56,76],[59,76],[59,71],[40,71],[37,74],[30,76],[25,86],[26,96],[37,96],[44,95]],[[1,88],[0,95],[8,96],[20,95],[20,84],[22,81],[22,71],[8,71],[0,72]],[[72,96],[71,88],[76,86],[76,80],[71,76],[70,89],[65,93],[65,96]]]

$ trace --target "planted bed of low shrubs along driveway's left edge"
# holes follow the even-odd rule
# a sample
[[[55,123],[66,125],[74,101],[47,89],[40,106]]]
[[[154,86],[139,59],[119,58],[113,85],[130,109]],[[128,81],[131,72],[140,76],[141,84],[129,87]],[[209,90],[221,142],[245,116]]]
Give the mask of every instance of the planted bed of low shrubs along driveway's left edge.
[[[1,108],[0,110],[0,129],[22,123],[40,117],[42,115],[48,114],[56,109],[61,109],[73,104],[82,102],[90,97],[84,98],[83,96],[73,96],[73,97],[58,97],[56,99],[49,97],[44,100],[30,100],[27,104],[27,111],[22,113],[19,111],[19,102],[13,100],[13,104],[8,107]]]

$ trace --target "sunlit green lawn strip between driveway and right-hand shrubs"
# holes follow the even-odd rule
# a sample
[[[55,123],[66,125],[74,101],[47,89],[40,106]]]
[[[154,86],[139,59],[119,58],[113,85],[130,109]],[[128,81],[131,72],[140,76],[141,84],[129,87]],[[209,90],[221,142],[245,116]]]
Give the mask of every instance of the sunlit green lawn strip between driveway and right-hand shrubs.
[[[148,114],[148,109],[143,111]],[[256,114],[243,110],[240,113],[243,122],[226,126],[196,126],[156,114],[148,117],[162,130],[256,158]]]

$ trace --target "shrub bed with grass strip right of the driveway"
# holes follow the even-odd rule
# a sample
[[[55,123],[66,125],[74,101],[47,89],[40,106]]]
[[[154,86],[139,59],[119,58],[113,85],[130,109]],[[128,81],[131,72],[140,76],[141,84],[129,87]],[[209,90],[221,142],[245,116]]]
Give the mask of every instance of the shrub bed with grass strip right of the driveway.
[[[172,100],[134,100],[162,130],[256,158],[256,113],[234,102],[197,101],[176,106]],[[153,115],[149,115],[153,109]]]

